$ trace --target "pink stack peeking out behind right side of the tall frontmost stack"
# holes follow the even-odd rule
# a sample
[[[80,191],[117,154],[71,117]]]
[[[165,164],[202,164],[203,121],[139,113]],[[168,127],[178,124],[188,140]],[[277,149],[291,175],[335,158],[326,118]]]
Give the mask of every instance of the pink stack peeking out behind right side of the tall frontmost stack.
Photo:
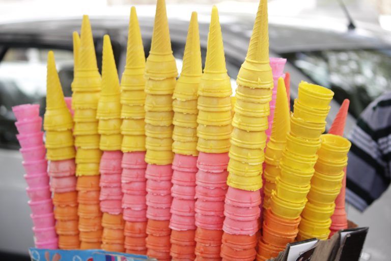
[[[269,141],[270,135],[271,135],[271,129],[272,129],[272,123],[274,119],[274,110],[276,107],[276,100],[277,100],[277,85],[278,85],[278,79],[282,77],[285,79],[285,73],[284,71],[284,66],[287,62],[287,59],[284,58],[270,58],[270,67],[271,71],[273,73],[273,90],[272,90],[272,96],[271,96],[271,101],[270,101],[270,114],[268,116],[268,121],[269,121],[269,128],[266,129],[266,135],[267,135],[267,141]]]

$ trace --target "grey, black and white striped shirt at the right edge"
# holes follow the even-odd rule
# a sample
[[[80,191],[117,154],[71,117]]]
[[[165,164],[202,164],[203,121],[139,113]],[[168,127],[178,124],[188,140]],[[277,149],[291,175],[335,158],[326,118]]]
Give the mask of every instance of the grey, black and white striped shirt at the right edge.
[[[391,93],[374,100],[351,132],[346,200],[364,211],[390,184]]]

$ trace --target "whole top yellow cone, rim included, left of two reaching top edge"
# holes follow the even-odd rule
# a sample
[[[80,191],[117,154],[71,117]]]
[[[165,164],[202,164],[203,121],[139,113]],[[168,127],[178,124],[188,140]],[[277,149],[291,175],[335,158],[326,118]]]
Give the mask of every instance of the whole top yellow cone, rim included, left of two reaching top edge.
[[[147,58],[145,76],[152,79],[165,79],[177,75],[178,70],[171,49],[165,1],[157,0],[151,50]]]

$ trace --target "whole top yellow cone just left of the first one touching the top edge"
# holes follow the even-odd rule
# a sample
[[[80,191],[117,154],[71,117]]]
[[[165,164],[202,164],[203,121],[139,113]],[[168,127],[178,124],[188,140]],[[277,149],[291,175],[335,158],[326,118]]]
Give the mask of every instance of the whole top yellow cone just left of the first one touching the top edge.
[[[131,7],[129,19],[126,65],[122,74],[122,90],[144,90],[145,53],[143,39],[138,25],[136,8]]]

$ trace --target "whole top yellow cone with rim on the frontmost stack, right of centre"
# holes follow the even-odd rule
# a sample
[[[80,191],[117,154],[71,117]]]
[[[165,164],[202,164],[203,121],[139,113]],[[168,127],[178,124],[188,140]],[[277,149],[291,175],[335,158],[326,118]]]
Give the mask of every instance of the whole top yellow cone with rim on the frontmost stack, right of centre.
[[[267,0],[260,0],[247,56],[239,70],[236,83],[252,88],[273,88],[273,75],[269,65]]]

